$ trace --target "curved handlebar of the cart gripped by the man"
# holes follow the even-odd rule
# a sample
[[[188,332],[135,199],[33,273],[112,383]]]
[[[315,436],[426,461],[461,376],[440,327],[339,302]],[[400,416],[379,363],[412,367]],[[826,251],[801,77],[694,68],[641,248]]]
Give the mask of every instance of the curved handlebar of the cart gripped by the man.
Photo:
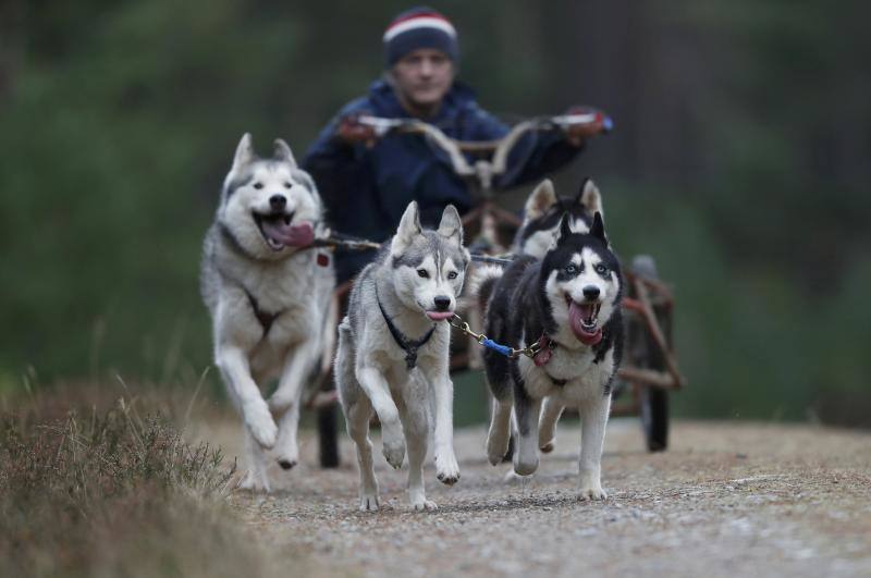
[[[505,172],[508,155],[527,133],[560,130],[569,136],[586,137],[609,133],[613,126],[614,123],[608,114],[589,110],[533,118],[516,124],[502,138],[469,142],[451,138],[438,126],[416,119],[385,119],[360,114],[343,120],[339,133],[347,140],[363,140],[368,144],[373,144],[390,133],[422,134],[447,155],[457,175],[476,176],[483,188],[490,188],[493,177]],[[490,161],[480,159],[469,164],[464,152],[491,153],[492,157]]]

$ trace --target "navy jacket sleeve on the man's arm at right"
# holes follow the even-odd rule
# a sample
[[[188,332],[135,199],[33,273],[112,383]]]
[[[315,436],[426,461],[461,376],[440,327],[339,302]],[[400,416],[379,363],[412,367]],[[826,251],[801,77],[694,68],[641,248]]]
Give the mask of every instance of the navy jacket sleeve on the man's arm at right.
[[[502,138],[510,131],[504,123],[478,107],[473,114],[476,121],[474,140]],[[584,145],[571,145],[559,131],[528,133],[508,155],[506,171],[496,186],[507,188],[538,181],[566,165],[582,149]]]

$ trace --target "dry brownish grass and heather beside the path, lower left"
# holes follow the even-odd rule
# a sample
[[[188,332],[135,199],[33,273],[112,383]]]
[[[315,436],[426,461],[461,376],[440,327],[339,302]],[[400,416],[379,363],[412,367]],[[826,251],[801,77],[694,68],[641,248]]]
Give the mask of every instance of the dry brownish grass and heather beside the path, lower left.
[[[3,401],[0,576],[273,574],[220,450],[187,443],[158,397],[72,397]]]

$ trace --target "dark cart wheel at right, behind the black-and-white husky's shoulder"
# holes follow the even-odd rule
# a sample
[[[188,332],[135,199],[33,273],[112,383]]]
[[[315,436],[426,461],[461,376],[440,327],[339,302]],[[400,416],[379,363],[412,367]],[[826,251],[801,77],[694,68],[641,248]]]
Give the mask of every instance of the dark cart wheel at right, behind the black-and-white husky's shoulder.
[[[639,276],[659,279],[657,262],[649,255],[636,256],[633,259],[631,270]],[[657,317],[663,324],[666,339],[671,341],[670,320],[663,319],[660,311],[657,311]],[[628,345],[631,349],[630,354],[639,366],[658,371],[664,370],[665,360],[646,328],[633,329],[634,331],[629,331],[630,343]],[[641,406],[641,428],[645,431],[647,448],[650,452],[662,452],[668,446],[668,392],[661,388],[641,385],[638,401]]]

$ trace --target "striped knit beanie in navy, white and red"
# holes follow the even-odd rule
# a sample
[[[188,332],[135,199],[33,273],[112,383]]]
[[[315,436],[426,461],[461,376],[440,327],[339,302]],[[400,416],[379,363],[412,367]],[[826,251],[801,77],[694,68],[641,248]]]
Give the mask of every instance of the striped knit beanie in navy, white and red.
[[[459,57],[456,29],[451,21],[431,8],[406,10],[393,19],[384,30],[384,58],[388,67],[420,48],[440,50],[455,63]]]

